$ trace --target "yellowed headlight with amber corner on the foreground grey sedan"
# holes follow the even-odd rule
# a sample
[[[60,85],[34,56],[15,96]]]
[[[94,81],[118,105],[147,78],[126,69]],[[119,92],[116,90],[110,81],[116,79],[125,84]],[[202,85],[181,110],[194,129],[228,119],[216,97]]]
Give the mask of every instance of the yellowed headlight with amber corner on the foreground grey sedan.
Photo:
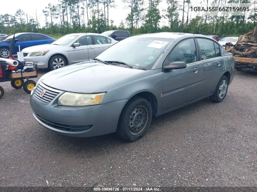
[[[58,102],[64,106],[97,105],[101,103],[102,98],[105,94],[106,93],[87,94],[65,92],[59,97]]]

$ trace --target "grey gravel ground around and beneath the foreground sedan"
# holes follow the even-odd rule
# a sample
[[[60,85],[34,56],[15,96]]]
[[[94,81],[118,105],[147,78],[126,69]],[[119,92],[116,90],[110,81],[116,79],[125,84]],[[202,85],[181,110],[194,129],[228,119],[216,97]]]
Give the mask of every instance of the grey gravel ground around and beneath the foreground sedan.
[[[52,133],[33,119],[30,94],[1,83],[0,186],[257,186],[256,80],[236,72],[223,102],[153,118],[133,143]]]

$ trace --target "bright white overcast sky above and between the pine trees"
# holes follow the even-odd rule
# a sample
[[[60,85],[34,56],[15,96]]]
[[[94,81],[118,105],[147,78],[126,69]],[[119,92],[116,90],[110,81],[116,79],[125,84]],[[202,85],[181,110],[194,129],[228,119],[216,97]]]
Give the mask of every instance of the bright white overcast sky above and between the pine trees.
[[[4,1],[4,0],[1,0]],[[198,2],[199,0],[195,0],[196,2]],[[121,20],[123,20],[123,22],[125,22],[125,18],[127,17],[128,13],[130,12],[130,10],[128,8],[124,8],[125,4],[121,1],[121,0],[115,0],[115,4],[116,4],[116,8],[110,8],[109,9],[109,20],[113,20],[113,25],[119,26]],[[144,0],[144,2],[148,2],[148,0]],[[8,3],[1,3],[0,6],[0,14],[4,15],[6,13],[10,14],[10,15],[14,15],[16,10],[18,10],[19,8],[22,9],[25,14],[28,14],[28,19],[30,19],[30,17],[35,18],[36,17],[36,12],[37,12],[37,16],[38,16],[38,21],[40,23],[40,26],[44,26],[45,25],[45,16],[42,12],[42,10],[49,4],[51,3],[52,5],[57,5],[58,0],[9,0]],[[182,5],[182,0],[179,0],[179,3]],[[13,7],[10,9],[10,5],[12,5]],[[145,4],[145,6],[148,6],[147,4]],[[101,5],[99,7],[99,9],[102,8],[103,9],[103,5]],[[161,12],[161,15],[164,14],[164,12],[162,11],[164,8],[167,8],[167,4],[165,3],[165,0],[162,0],[162,2],[159,5],[159,10]],[[187,8],[185,9],[187,11]],[[193,14],[192,14],[192,18],[193,18]],[[106,13],[106,17],[107,17],[107,13]],[[180,14],[180,17],[182,18],[182,11]],[[190,12],[189,12],[189,18],[190,18]],[[26,15],[24,15],[24,19],[26,20]],[[186,13],[185,13],[185,20],[186,20]],[[50,21],[50,17],[48,19],[48,22]],[[87,18],[85,16],[85,22],[87,21]],[[57,21],[55,21],[57,22]],[[168,25],[168,20],[162,18],[161,22],[160,22],[160,26],[163,25]]]

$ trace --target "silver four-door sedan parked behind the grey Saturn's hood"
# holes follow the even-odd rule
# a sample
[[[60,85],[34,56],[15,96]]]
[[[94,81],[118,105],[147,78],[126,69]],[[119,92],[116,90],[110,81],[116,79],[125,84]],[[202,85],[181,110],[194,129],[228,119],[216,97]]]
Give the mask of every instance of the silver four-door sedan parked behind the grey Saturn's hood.
[[[36,45],[22,50],[25,62],[38,68],[58,69],[93,59],[118,41],[97,33],[72,33],[51,44]]]

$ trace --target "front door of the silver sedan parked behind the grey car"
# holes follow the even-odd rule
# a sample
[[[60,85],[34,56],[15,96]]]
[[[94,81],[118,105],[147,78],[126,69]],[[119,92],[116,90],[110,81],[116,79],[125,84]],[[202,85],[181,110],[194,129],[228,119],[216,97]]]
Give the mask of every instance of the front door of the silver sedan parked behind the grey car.
[[[69,56],[71,64],[86,61],[94,58],[94,45],[92,45],[92,35],[79,37],[75,42],[79,43],[78,47],[69,47]],[[90,44],[90,45],[88,45]],[[90,48],[92,47],[92,48]]]

